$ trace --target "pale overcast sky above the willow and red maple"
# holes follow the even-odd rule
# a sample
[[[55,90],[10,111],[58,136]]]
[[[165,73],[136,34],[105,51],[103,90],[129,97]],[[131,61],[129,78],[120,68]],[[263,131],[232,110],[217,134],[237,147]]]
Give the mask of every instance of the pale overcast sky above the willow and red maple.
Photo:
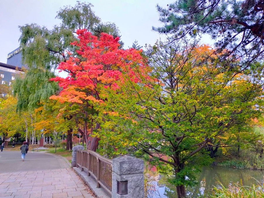
[[[93,10],[103,22],[114,22],[121,32],[125,48],[134,40],[140,45],[153,44],[159,34],[152,26],[161,26],[156,4],[166,6],[171,0],[90,0]],[[81,0],[81,2],[83,2]],[[0,62],[19,47],[18,26],[37,23],[52,29],[60,21],[55,19],[60,7],[74,6],[75,0],[0,0]]]

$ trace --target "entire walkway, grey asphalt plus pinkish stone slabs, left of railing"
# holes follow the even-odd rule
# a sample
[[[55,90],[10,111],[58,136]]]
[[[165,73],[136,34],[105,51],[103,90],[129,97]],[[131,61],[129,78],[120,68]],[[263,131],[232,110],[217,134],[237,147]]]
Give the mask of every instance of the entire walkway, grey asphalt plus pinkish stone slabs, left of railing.
[[[95,197],[63,158],[40,152],[18,158],[19,152],[0,153],[0,197]]]

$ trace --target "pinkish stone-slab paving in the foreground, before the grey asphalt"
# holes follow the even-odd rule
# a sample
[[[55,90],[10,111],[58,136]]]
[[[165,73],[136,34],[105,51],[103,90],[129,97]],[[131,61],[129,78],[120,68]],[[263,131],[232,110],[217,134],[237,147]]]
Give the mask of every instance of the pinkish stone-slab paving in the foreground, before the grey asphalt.
[[[0,197],[95,197],[71,168],[0,173]]]

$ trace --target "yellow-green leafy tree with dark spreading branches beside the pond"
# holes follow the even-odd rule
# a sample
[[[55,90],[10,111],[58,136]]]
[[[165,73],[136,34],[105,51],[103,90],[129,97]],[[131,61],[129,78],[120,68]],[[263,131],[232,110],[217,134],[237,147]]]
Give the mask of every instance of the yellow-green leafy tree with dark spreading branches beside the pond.
[[[239,126],[240,117],[260,114],[254,106],[263,103],[259,73],[263,65],[248,75],[237,74],[239,66],[234,63],[232,70],[223,70],[227,62],[218,55],[204,61],[213,50],[207,45],[169,43],[158,42],[146,51],[151,78],[136,74],[142,82],[135,83],[128,76],[118,84],[120,89],[108,89],[109,103],[104,108],[118,115],[106,119],[113,130],[106,129],[105,136],[112,134],[109,144],[119,138],[134,155],[147,153],[160,171],[172,170],[170,182],[183,198],[185,186],[195,184],[194,173],[211,162],[204,148]]]

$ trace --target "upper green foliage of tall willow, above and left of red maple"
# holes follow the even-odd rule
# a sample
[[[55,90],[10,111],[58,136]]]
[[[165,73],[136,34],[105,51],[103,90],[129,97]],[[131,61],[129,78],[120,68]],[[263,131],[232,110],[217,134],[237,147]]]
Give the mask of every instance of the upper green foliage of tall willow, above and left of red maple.
[[[90,3],[79,1],[73,7],[64,6],[56,16],[61,23],[52,30],[34,23],[19,26],[21,31],[19,41],[24,63],[29,67],[56,69],[60,62],[68,59],[67,52],[75,53],[76,48],[70,43],[77,40],[78,29],[87,29],[96,35],[106,32],[118,37],[118,27],[114,23],[101,22],[92,7]]]

